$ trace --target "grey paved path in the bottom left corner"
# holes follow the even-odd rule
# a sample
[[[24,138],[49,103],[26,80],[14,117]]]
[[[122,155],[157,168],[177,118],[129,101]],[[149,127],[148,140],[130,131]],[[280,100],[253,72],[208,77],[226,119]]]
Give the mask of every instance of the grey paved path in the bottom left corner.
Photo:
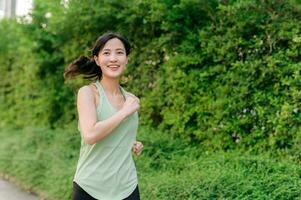
[[[15,185],[0,179],[0,200],[38,200],[39,198],[21,191]]]

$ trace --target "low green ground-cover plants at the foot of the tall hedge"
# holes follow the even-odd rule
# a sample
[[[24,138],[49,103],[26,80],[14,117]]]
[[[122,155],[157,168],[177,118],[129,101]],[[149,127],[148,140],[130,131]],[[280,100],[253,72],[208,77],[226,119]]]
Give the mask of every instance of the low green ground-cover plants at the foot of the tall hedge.
[[[145,146],[134,156],[141,199],[300,199],[299,162],[267,153],[209,153],[146,127],[140,127],[138,138]],[[71,198],[80,146],[75,125],[6,129],[0,140],[1,173],[42,199]]]

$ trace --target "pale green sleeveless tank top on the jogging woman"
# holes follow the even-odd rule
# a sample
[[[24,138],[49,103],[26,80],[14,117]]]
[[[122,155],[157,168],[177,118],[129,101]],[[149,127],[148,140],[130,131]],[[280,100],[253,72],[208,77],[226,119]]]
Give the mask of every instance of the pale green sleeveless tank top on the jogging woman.
[[[96,81],[100,103],[97,121],[108,119],[114,108],[99,81]],[[129,94],[122,88],[126,97]],[[99,200],[121,200],[128,197],[138,184],[132,146],[136,139],[138,113],[125,118],[112,133],[90,145],[81,135],[81,148],[74,181],[89,195]],[[79,127],[80,131],[80,127]]]

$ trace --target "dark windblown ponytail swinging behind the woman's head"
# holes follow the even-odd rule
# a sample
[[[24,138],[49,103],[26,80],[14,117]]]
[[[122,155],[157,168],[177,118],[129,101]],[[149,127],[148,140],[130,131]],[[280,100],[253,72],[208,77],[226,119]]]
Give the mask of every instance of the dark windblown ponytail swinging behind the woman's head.
[[[65,69],[64,78],[71,79],[77,75],[83,75],[85,79],[101,79],[102,72],[93,58],[80,56]]]

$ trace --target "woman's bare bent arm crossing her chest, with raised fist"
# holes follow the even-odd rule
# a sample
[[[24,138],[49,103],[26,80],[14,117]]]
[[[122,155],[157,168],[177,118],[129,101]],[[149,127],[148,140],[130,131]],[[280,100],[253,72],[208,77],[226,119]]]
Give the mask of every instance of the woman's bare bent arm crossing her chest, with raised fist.
[[[84,141],[87,144],[95,144],[108,136],[127,116],[139,109],[138,101],[137,98],[128,96],[122,109],[110,118],[97,122],[93,91],[89,86],[80,88],[77,95],[77,110]]]

